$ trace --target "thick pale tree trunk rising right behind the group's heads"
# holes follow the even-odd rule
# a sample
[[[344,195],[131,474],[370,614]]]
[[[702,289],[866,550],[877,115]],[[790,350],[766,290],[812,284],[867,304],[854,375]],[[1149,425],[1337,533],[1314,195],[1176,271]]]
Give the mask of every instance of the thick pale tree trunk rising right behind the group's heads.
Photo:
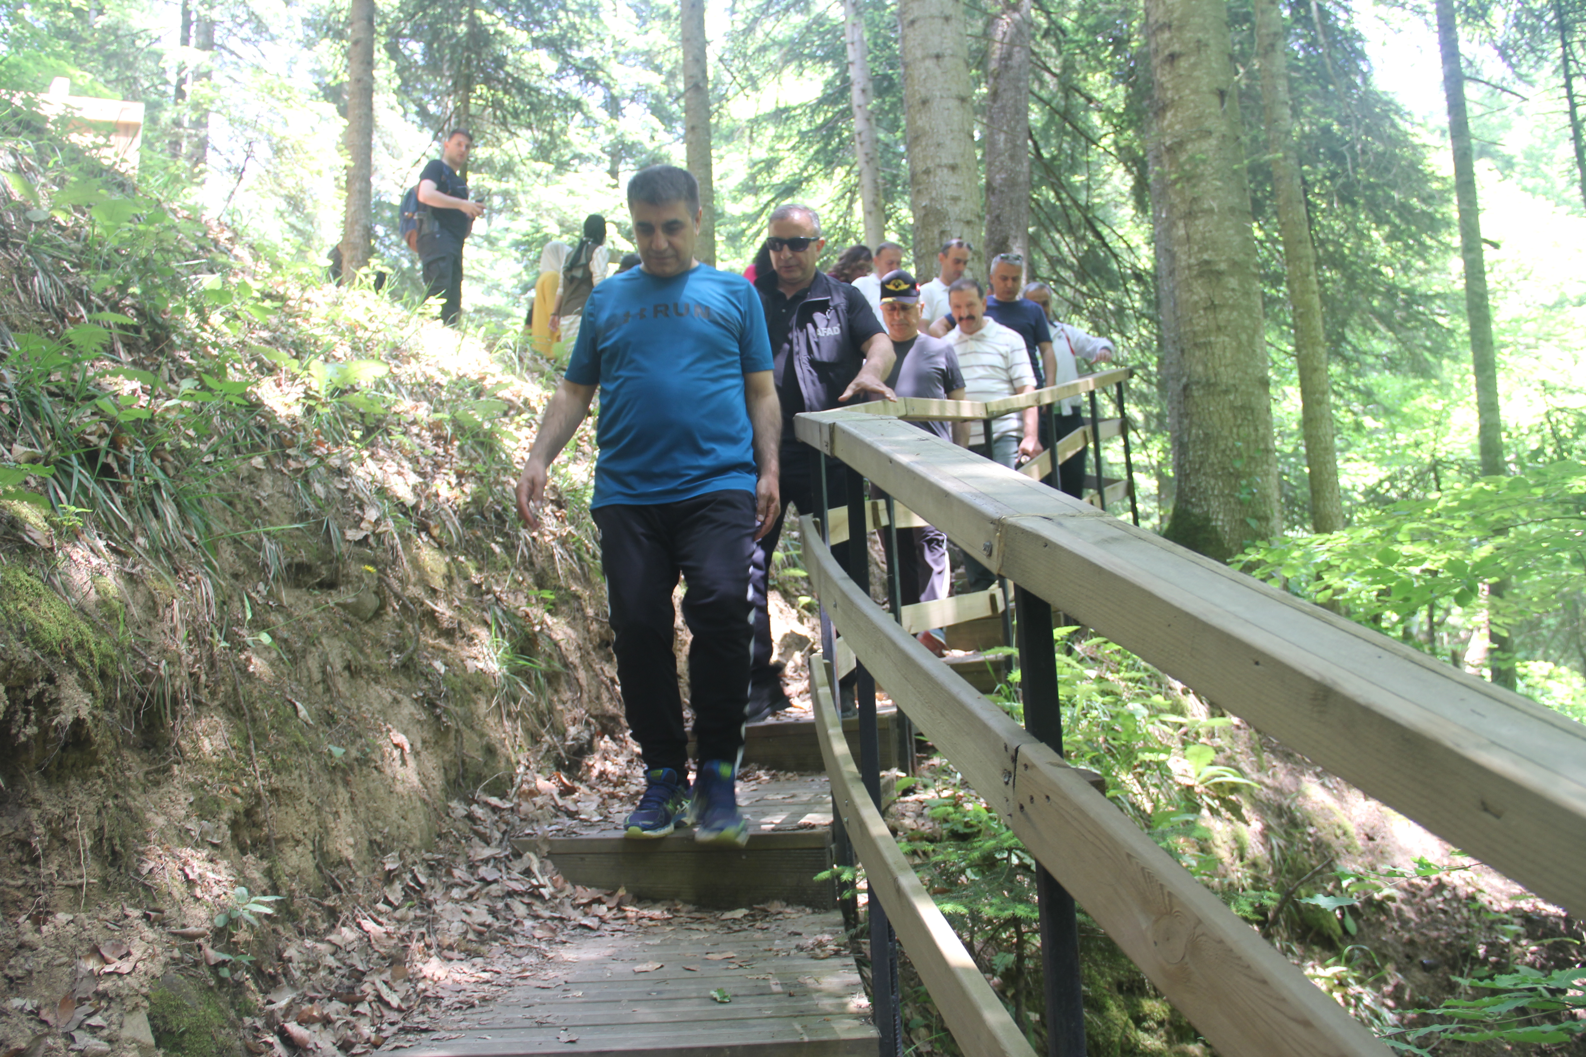
[[[914,268],[925,279],[936,274],[936,252],[942,242],[974,239],[985,227],[969,51],[960,0],[898,0],[898,25]]]

